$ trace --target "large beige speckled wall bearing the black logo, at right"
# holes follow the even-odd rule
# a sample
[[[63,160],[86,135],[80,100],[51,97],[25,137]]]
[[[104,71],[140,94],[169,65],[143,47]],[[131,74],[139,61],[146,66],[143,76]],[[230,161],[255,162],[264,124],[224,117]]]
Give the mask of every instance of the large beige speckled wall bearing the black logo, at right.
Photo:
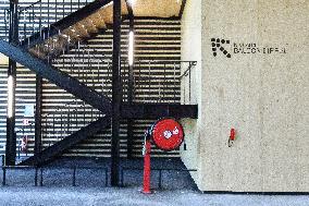
[[[200,8],[199,135],[187,136],[197,150],[183,153],[185,163],[197,159],[199,189],[309,192],[309,1],[207,0]],[[232,57],[219,48],[214,57],[211,38],[231,40],[223,46]],[[255,53],[235,53],[243,43],[255,44]],[[228,147],[231,128],[237,140]]]

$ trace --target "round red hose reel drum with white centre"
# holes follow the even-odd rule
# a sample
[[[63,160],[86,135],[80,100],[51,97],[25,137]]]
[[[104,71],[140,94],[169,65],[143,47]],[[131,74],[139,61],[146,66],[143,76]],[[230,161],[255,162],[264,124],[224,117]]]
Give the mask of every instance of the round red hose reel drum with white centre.
[[[153,143],[162,150],[174,150],[184,141],[184,129],[174,119],[162,119],[151,128]]]

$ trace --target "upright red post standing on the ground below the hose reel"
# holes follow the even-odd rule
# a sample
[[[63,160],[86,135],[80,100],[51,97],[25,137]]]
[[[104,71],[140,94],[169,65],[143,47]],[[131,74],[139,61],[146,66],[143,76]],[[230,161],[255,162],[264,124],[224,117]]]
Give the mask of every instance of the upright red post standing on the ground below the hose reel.
[[[145,143],[145,155],[144,155],[144,194],[151,194],[150,190],[150,150],[151,144],[150,138],[146,138]]]

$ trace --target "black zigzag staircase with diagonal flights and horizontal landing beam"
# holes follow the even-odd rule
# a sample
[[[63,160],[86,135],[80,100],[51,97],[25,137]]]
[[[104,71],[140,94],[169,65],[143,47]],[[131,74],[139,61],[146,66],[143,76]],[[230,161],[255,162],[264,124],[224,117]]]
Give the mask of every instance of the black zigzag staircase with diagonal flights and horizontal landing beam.
[[[52,23],[47,28],[40,28],[32,36],[24,38],[20,45],[9,44],[0,39],[0,52],[10,59],[27,66],[39,76],[50,81],[60,88],[82,99],[103,113],[104,117],[89,123],[81,130],[65,136],[58,143],[45,148],[41,153],[27,158],[20,165],[42,165],[54,159],[88,136],[110,125],[112,102],[107,95],[98,93],[77,77],[53,66],[51,60],[64,54],[72,47],[92,38],[113,24],[111,0],[96,0],[75,11],[66,17]],[[108,16],[106,16],[106,14]],[[126,3],[121,8],[123,16],[127,15]],[[24,31],[26,33],[26,31]],[[189,64],[189,69],[194,64]],[[182,77],[182,76],[181,76]],[[181,81],[178,77],[177,81]],[[150,80],[150,72],[147,81]],[[175,77],[174,77],[174,81]],[[174,85],[175,86],[175,83]],[[161,88],[161,87],[160,87]],[[150,89],[150,81],[149,81]],[[160,92],[159,92],[160,93]],[[197,118],[196,105],[180,105],[177,102],[124,102],[121,105],[122,119],[158,119],[162,117]]]

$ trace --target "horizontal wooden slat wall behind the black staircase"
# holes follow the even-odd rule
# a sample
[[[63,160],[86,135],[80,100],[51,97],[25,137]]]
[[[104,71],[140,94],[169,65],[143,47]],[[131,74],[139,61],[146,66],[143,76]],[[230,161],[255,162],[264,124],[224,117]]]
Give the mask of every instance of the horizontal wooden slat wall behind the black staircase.
[[[54,14],[50,14],[51,16]],[[60,16],[60,15],[58,15]],[[1,25],[1,22],[0,22]],[[122,26],[122,58],[127,58],[128,21]],[[134,76],[136,86],[134,101],[137,102],[180,102],[180,82],[174,75],[180,74],[177,64],[169,61],[181,60],[181,24],[176,20],[136,20],[135,21],[135,60],[143,60],[143,63],[135,65]],[[2,33],[1,33],[2,34]],[[82,52],[84,51],[84,53]],[[88,56],[89,52],[89,56]],[[67,54],[58,58],[53,64],[60,70],[64,70],[88,86],[98,92],[111,95],[111,56],[112,56],[112,31],[89,40],[86,46],[82,45],[79,52],[72,49]],[[98,60],[99,59],[99,60]],[[163,63],[149,63],[147,60],[161,60]],[[79,76],[78,76],[79,71]],[[28,71],[29,72],[29,71]],[[127,68],[123,66],[124,100],[126,100]],[[2,76],[4,81],[2,81]],[[20,75],[18,75],[20,76]],[[21,78],[22,80],[22,78]],[[33,82],[29,83],[35,88],[34,74]],[[166,84],[168,81],[168,84]],[[150,82],[150,89],[149,89]],[[1,89],[7,87],[7,66],[1,70]],[[35,94],[35,90],[34,90]],[[160,97],[159,97],[160,94]],[[3,97],[2,97],[3,95]],[[5,94],[7,95],[7,94]],[[5,129],[5,102],[7,97],[1,90],[1,114],[0,130]],[[44,81],[42,100],[42,129],[44,147],[54,144],[63,138],[67,133],[72,133],[100,116],[96,109],[81,101],[74,101],[74,97],[55,85]],[[35,101],[35,95],[28,95],[28,99]],[[72,102],[74,101],[74,107]],[[75,102],[77,102],[75,105]],[[23,101],[21,101],[23,104]],[[70,107],[65,106],[71,104]],[[77,109],[78,108],[78,109]],[[73,116],[72,110],[78,110],[78,116]],[[3,111],[3,112],[2,112]],[[86,111],[86,113],[85,113]],[[70,122],[66,121],[67,113]],[[48,117],[47,117],[48,116]],[[55,117],[55,118],[54,118]],[[86,117],[86,118],[85,118]],[[55,121],[53,121],[55,119]],[[86,119],[86,121],[84,121]],[[77,120],[77,121],[76,121]],[[134,153],[141,156],[144,132],[147,126],[156,120],[139,120],[134,124]],[[76,125],[77,122],[77,125]],[[52,124],[55,123],[55,128]],[[70,125],[70,126],[67,126]],[[69,129],[67,129],[69,128]],[[126,122],[121,126],[121,155],[126,156]],[[0,133],[0,144],[5,141],[5,133]],[[33,135],[33,134],[32,134]],[[110,130],[89,137],[87,141],[67,150],[65,156],[87,156],[87,157],[109,157],[110,156]],[[4,145],[4,144],[3,144]],[[3,148],[0,146],[0,153]],[[30,145],[30,152],[33,146]],[[163,153],[153,148],[153,155],[160,157],[178,156],[178,152]]]

